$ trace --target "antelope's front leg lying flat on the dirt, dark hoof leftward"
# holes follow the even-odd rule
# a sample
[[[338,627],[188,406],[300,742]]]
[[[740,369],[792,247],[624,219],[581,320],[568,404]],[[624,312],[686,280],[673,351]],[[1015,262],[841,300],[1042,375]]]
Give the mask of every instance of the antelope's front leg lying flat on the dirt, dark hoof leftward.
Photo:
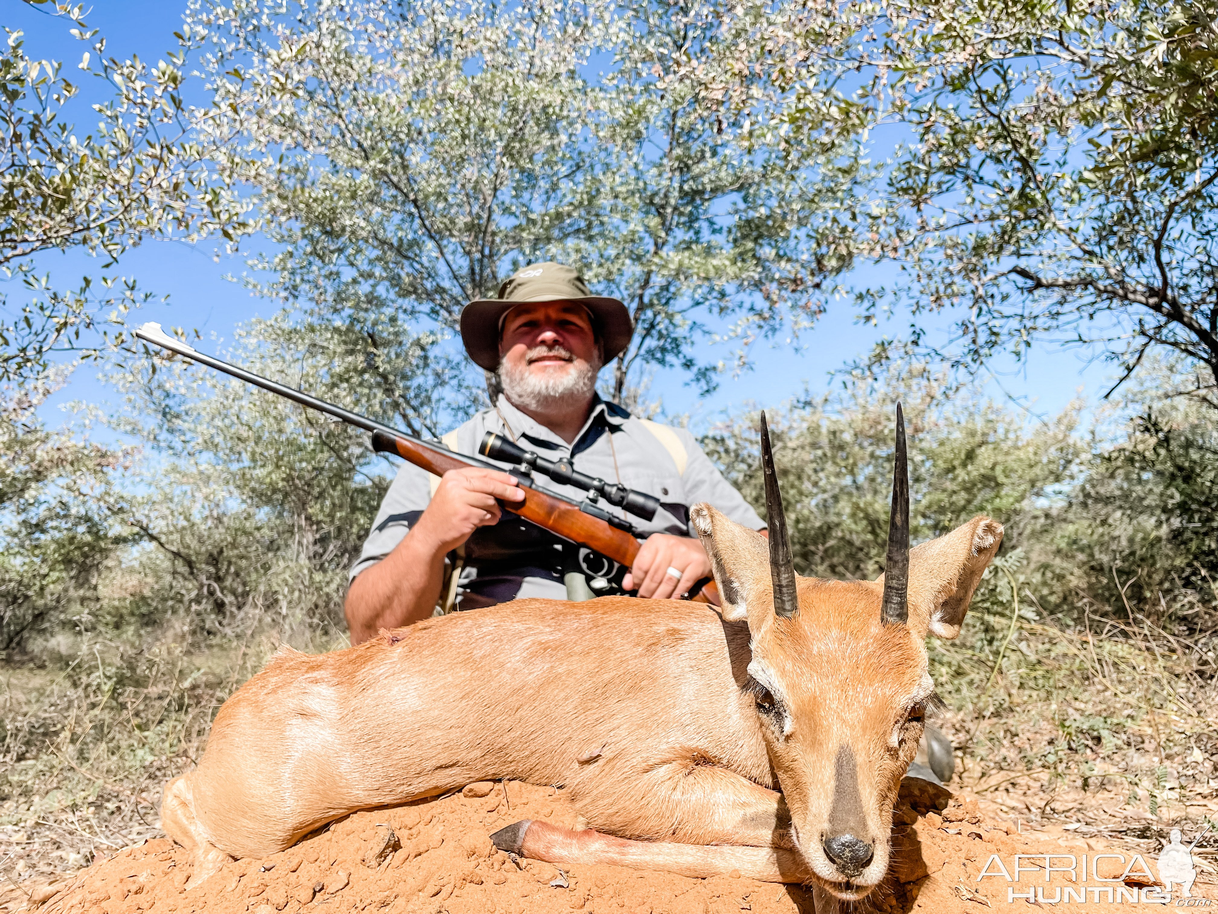
[[[501,851],[555,864],[610,864],[660,870],[692,879],[738,871],[762,882],[809,882],[811,870],[794,851],[776,847],[676,845],[628,841],[585,829],[570,831],[543,821],[519,821],[493,835]]]

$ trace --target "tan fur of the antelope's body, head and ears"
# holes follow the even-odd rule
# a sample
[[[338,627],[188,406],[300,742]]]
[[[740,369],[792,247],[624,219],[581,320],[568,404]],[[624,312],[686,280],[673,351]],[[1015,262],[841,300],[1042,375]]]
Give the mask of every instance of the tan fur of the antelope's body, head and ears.
[[[510,778],[565,785],[590,826],[575,840],[537,824],[521,832],[529,856],[865,895],[887,869],[892,804],[921,736],[906,728],[888,745],[924,680],[922,639],[959,631],[1001,526],[976,518],[914,550],[910,625],[882,626],[883,585],[870,581],[799,579],[799,614],[775,617],[761,537],[706,506],[694,523],[737,601],[722,617],[738,622],[688,602],[526,600],[276,654],[166,790],[162,824],[195,849],[192,884],[225,856],[281,851],[354,809]],[[789,704],[784,739],[742,692],[750,661]],[[876,842],[853,882],[820,851],[842,745]]]

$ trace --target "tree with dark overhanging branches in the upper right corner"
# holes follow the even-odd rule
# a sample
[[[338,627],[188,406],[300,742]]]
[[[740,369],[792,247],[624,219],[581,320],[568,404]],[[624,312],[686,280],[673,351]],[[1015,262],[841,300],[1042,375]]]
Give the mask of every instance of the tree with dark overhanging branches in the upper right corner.
[[[895,126],[856,256],[900,266],[900,294],[867,301],[904,302],[915,345],[974,370],[1093,344],[1122,380],[1174,351],[1218,407],[1216,19],[1212,0],[733,0],[680,78],[708,110],[747,111],[766,73],[795,129]],[[956,333],[931,346],[939,311]]]

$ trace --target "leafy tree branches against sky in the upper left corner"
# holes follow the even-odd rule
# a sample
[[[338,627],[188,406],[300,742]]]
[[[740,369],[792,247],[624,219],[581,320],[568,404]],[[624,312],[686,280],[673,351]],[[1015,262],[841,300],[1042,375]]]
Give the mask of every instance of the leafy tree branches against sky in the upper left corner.
[[[105,38],[88,28],[80,5],[27,2],[63,18],[83,49],[79,76],[69,78],[62,62],[26,54],[19,30],[6,28],[0,45],[2,380],[39,375],[56,351],[90,357],[121,341],[121,314],[146,296],[113,273],[119,255],[151,236],[235,227],[241,210],[225,212],[227,201],[208,193],[197,149],[186,140],[180,57],[156,66],[107,57]],[[80,90],[77,79],[107,83],[89,133],[62,116]],[[52,284],[37,262],[69,249],[100,258],[97,273],[76,289]]]

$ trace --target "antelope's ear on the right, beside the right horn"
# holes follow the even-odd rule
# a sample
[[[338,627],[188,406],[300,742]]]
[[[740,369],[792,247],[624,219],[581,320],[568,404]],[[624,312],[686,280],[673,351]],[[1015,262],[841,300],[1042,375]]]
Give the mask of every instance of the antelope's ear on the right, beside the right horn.
[[[910,623],[956,637],[985,565],[1002,542],[1002,525],[974,517],[950,534],[910,551]]]

